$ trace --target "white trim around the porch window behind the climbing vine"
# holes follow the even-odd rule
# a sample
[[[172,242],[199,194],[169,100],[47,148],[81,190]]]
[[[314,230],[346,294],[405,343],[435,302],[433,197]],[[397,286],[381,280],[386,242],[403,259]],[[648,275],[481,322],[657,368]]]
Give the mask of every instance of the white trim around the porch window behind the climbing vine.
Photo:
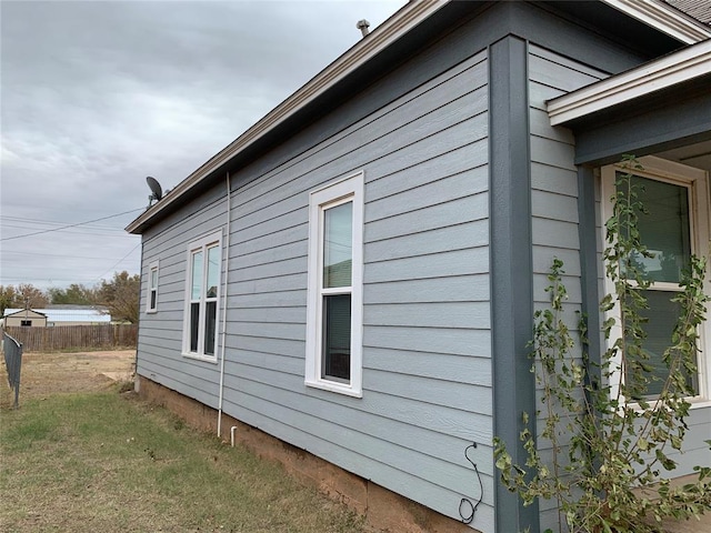
[[[711,210],[711,201],[709,199],[708,190],[708,175],[705,171],[687,167],[685,164],[677,163],[673,161],[648,155],[639,159],[643,170],[632,170],[631,173],[659,180],[668,183],[674,183],[678,185],[688,187],[691,191],[691,199],[689,209],[690,217],[690,231],[691,231],[691,253],[697,257],[705,257],[709,259],[709,238],[711,235],[709,211]],[[630,169],[625,169],[619,164],[608,165],[602,168],[602,222],[607,221],[612,215],[612,197],[614,194],[615,172],[630,172]],[[602,228],[603,248],[604,242],[604,227]],[[709,265],[707,265],[709,266]],[[704,292],[709,294],[711,290],[711,272],[707,268],[707,278],[704,280]],[[659,283],[661,289],[669,283]],[[672,289],[669,286],[668,289]],[[605,275],[604,278],[604,292],[611,294],[614,291],[612,281]],[[605,348],[610,348],[614,343],[615,339],[622,335],[620,328],[620,309],[615,305],[613,309],[605,313],[605,319],[615,319],[615,325],[612,328],[610,339]],[[691,409],[711,406],[711,354],[709,353],[709,340],[711,340],[711,316],[707,316],[705,322],[702,324],[699,332],[701,351],[698,360],[698,379],[699,379],[699,394],[690,398]],[[613,361],[613,373],[611,375],[611,383],[619,383],[620,376],[620,361]],[[615,396],[618,388],[613,386],[610,391],[611,395]],[[653,405],[654,402],[650,402]]]

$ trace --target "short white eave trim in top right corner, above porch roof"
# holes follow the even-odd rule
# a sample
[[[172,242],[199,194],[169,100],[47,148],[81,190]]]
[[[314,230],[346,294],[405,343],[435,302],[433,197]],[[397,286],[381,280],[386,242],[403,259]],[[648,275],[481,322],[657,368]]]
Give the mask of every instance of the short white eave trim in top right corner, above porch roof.
[[[711,39],[711,28],[659,0],[602,1],[687,44]]]

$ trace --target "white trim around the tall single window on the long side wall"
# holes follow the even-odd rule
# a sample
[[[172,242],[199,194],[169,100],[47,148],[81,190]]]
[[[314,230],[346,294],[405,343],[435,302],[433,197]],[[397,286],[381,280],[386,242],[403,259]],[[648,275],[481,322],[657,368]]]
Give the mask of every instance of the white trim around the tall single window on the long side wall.
[[[363,188],[364,173],[316,190],[309,197],[309,270],[307,302],[306,384],[340,394],[362,398],[363,339]],[[322,331],[322,230],[324,208],[353,202],[352,269],[351,269],[351,358],[350,382],[321,378]]]

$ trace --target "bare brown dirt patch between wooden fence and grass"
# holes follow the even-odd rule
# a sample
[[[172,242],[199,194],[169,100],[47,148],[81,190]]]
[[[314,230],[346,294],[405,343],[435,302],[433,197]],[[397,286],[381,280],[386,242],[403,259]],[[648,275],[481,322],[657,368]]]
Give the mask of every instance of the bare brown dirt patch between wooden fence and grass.
[[[76,353],[28,352],[22,355],[20,406],[23,401],[51,394],[106,389],[133,379],[136,350]],[[0,362],[0,409],[12,405],[4,359]]]

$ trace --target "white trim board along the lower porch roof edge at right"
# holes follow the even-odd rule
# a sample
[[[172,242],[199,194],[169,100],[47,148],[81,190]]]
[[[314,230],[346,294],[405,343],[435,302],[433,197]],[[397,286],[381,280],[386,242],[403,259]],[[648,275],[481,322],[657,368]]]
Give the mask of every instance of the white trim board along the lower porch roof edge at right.
[[[711,40],[598,81],[548,102],[552,125],[601,111],[711,72]]]

